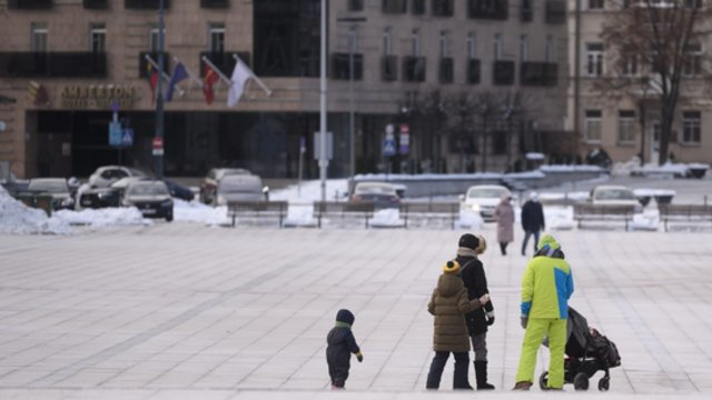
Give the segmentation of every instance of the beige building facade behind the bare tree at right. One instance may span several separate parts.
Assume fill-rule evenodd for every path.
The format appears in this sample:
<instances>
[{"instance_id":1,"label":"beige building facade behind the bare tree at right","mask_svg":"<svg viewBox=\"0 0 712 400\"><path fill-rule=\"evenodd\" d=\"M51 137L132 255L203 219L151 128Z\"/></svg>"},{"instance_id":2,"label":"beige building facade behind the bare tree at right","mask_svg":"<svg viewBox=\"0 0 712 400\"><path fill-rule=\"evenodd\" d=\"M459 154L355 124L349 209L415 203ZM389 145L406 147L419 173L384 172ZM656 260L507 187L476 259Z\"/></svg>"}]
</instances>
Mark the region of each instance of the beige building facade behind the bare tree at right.
<instances>
[{"instance_id":1,"label":"beige building facade behind the bare tree at right","mask_svg":"<svg viewBox=\"0 0 712 400\"><path fill-rule=\"evenodd\" d=\"M627 2L568 1L572 10L568 37L573 76L568 88L566 128L577 132L582 153L603 149L614 162L642 156L644 162L656 163L662 120L657 74L650 62L640 60L640 57L622 62L621 56L602 39L606 20L620 12L624 4ZM699 48L692 50L700 54L700 61L682 71L670 161L712 162L712 136L705 132L705 128L712 124L712 101L708 93L710 72L702 57L709 43L698 44ZM640 84L631 84L616 92L602 92L600 83L611 78L625 78Z\"/></svg>"}]
</instances>

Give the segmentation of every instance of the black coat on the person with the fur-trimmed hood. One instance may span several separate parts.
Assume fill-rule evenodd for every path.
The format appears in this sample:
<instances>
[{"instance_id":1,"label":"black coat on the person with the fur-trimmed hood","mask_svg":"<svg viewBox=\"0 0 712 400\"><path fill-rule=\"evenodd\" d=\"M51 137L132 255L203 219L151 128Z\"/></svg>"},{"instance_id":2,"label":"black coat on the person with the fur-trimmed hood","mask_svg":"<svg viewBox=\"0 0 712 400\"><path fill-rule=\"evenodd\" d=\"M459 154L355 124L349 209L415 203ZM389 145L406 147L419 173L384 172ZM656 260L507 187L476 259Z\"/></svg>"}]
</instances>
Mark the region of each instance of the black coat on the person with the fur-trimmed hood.
<instances>
[{"instance_id":1,"label":"black coat on the person with the fur-trimmed hood","mask_svg":"<svg viewBox=\"0 0 712 400\"><path fill-rule=\"evenodd\" d=\"M479 299L485 293L490 293L487 289L487 277L485 277L485 269L482 266L482 261L474 257L457 256L455 259L463 266L459 273L467 289L467 298L469 300ZM467 322L467 329L471 336L482 334L487 331L487 320L485 312L494 311L492 306L492 299L483 308L472 311L465 316Z\"/></svg>"}]
</instances>

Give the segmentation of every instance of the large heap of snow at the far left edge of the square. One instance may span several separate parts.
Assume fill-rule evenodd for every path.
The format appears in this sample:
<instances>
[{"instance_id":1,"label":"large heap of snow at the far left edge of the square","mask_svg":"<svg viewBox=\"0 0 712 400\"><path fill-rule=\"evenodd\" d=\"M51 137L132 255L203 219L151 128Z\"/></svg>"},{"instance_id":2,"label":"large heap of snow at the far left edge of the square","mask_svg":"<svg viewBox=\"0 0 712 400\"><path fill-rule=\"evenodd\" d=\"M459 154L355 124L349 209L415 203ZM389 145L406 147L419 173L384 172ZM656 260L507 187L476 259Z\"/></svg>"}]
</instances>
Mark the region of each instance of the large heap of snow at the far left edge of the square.
<instances>
[{"instance_id":1,"label":"large heap of snow at the far left edge of the square","mask_svg":"<svg viewBox=\"0 0 712 400\"><path fill-rule=\"evenodd\" d=\"M57 218L48 218L39 209L24 206L0 187L0 233L70 233L70 227Z\"/></svg>"}]
</instances>

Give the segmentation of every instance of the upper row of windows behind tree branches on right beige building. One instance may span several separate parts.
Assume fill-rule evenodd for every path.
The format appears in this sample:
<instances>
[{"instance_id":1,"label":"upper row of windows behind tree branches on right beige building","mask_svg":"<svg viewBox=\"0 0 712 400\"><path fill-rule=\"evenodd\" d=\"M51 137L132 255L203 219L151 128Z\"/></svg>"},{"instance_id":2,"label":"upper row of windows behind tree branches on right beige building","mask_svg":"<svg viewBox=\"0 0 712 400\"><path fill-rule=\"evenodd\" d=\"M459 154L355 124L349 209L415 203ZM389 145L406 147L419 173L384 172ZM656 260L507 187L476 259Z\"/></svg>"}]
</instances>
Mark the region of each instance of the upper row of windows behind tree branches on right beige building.
<instances>
[{"instance_id":1,"label":"upper row of windows behind tree branches on right beige building","mask_svg":"<svg viewBox=\"0 0 712 400\"><path fill-rule=\"evenodd\" d=\"M603 76L605 63L605 52L603 43L586 43L586 63L584 66L584 74L589 77ZM702 73L702 44L691 43L688 46L685 57L682 63L682 74L686 77L694 77ZM622 76L631 77L637 76L639 72L657 72L655 62L655 54L651 53L645 60L640 60L637 54L622 54L614 68ZM642 70L642 66L645 66L646 71Z\"/></svg>"}]
</instances>

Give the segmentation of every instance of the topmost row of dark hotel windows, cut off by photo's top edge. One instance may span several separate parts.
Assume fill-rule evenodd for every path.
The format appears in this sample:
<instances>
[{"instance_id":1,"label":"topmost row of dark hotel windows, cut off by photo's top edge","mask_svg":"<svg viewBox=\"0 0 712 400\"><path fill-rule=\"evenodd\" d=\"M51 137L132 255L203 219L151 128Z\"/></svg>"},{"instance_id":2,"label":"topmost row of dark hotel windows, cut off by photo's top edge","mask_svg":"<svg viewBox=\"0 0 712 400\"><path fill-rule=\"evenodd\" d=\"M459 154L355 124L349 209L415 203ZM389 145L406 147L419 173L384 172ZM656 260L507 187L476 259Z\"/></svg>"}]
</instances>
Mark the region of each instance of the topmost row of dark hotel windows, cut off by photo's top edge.
<instances>
[{"instance_id":1,"label":"topmost row of dark hotel windows, cut off by photo's top edge","mask_svg":"<svg viewBox=\"0 0 712 400\"><path fill-rule=\"evenodd\" d=\"M426 0L382 0L382 10L389 14L414 16L426 14ZM520 19L530 22L534 19L533 0L515 0L520 8ZM363 11L365 0L348 0L349 11ZM409 6L408 6L409 3ZM431 0L431 14L434 17L453 17L455 14L455 0ZM467 17L472 19L506 20L510 16L508 0L467 0ZM544 7L544 21L546 23L563 23L566 18L565 0L546 0Z\"/></svg>"}]
</instances>

